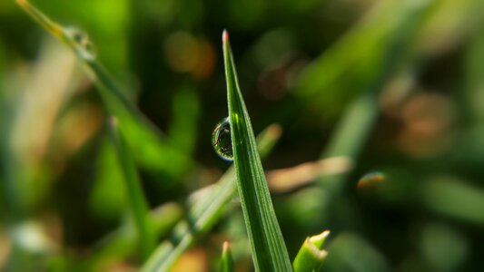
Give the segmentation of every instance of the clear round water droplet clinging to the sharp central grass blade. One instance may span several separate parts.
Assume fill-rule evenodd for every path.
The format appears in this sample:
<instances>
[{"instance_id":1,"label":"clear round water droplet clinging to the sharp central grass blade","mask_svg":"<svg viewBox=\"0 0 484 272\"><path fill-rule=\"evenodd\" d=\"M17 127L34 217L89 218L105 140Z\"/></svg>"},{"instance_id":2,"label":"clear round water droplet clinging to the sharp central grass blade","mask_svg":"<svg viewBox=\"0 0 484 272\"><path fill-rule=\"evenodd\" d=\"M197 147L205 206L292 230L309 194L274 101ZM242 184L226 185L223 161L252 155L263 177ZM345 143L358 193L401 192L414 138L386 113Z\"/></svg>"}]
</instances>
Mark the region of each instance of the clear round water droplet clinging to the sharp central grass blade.
<instances>
[{"instance_id":1,"label":"clear round water droplet clinging to the sharp central grass blade","mask_svg":"<svg viewBox=\"0 0 484 272\"><path fill-rule=\"evenodd\" d=\"M231 122L229 117L220 121L212 133L213 149L223 160L233 160Z\"/></svg>"}]
</instances>

